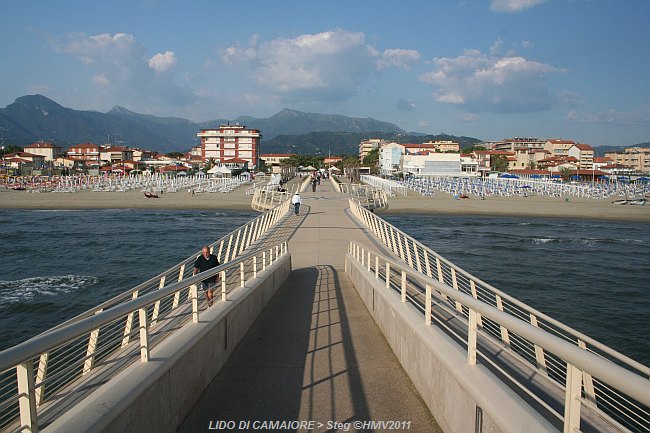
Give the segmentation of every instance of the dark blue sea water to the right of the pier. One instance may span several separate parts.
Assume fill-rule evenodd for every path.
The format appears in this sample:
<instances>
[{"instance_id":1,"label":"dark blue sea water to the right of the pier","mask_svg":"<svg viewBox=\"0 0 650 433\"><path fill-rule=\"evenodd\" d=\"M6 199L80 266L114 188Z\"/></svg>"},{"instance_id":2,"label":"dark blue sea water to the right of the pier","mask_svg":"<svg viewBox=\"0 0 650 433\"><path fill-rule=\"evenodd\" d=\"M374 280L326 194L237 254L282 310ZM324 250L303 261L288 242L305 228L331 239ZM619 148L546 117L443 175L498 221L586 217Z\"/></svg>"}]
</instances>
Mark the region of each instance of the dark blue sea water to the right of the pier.
<instances>
[{"instance_id":1,"label":"dark blue sea water to the right of the pier","mask_svg":"<svg viewBox=\"0 0 650 433\"><path fill-rule=\"evenodd\" d=\"M385 218L486 283L650 365L650 224Z\"/></svg>"}]
</instances>

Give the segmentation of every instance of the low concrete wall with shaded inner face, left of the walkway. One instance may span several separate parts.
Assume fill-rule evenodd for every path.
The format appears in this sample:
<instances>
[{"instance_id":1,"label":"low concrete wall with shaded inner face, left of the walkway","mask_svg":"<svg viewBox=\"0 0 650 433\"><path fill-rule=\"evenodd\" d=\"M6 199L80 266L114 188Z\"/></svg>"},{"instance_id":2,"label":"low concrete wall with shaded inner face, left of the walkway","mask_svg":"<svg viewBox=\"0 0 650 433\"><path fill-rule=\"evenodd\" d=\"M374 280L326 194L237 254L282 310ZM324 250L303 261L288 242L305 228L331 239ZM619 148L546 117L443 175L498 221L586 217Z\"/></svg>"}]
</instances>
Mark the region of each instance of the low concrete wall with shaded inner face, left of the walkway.
<instances>
[{"instance_id":1,"label":"low concrete wall with shaded inner face, left of the walkway","mask_svg":"<svg viewBox=\"0 0 650 433\"><path fill-rule=\"evenodd\" d=\"M287 254L42 431L175 432L290 272Z\"/></svg>"}]
</instances>

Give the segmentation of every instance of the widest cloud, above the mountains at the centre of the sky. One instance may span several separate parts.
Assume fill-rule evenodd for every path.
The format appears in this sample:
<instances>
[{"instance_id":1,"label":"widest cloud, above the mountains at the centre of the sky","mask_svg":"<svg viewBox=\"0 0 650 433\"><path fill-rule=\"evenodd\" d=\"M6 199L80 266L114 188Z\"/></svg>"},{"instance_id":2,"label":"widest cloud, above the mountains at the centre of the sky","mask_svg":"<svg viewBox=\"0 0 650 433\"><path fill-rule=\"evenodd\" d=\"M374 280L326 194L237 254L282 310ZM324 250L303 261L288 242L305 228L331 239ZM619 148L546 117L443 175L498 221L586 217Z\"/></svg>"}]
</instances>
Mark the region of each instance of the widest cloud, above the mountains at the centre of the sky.
<instances>
[{"instance_id":1,"label":"widest cloud, above the mountains at the centre of the sky","mask_svg":"<svg viewBox=\"0 0 650 433\"><path fill-rule=\"evenodd\" d=\"M402 49L382 53L366 43L363 33L334 30L266 42L256 36L246 46L226 48L221 60L284 99L342 101L375 71L408 68L419 60L419 53Z\"/></svg>"}]
</instances>

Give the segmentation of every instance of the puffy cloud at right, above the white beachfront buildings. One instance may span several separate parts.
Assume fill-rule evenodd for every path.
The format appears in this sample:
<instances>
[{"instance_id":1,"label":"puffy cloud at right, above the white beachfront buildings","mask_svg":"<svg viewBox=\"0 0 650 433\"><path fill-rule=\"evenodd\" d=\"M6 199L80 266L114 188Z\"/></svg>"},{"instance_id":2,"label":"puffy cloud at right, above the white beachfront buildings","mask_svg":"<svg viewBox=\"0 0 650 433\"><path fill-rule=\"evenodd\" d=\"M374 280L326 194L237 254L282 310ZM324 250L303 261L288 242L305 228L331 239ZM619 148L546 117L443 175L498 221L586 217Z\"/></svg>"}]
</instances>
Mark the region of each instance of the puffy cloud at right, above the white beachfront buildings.
<instances>
[{"instance_id":1,"label":"puffy cloud at right, above the white beachfront buildings","mask_svg":"<svg viewBox=\"0 0 650 433\"><path fill-rule=\"evenodd\" d=\"M490 54L467 50L437 58L420 79L434 87L438 102L463 105L471 112L520 113L549 109L557 99L546 88L549 75L562 69L520 56L500 56L499 41Z\"/></svg>"}]
</instances>

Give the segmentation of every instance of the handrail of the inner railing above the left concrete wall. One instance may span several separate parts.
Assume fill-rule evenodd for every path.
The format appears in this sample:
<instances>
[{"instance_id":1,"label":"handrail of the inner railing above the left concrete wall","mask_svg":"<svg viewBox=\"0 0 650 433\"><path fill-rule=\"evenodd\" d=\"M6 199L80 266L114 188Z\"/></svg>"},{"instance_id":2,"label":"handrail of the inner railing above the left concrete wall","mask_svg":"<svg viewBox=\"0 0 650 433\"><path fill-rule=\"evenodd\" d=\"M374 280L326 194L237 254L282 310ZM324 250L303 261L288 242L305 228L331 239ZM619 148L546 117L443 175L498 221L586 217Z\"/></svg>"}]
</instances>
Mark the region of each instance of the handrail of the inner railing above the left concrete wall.
<instances>
[{"instance_id":1,"label":"handrail of the inner railing above the left concrete wall","mask_svg":"<svg viewBox=\"0 0 650 433\"><path fill-rule=\"evenodd\" d=\"M277 247L280 245L286 247L286 241L281 242ZM264 250L266 250L266 248ZM284 249L284 251L287 251L287 249ZM89 333L93 329L109 324L124 317L126 314L149 306L179 290L185 289L211 276L217 275L224 270L230 269L231 267L259 254L259 252L260 251L252 251L244 254L215 268L192 275L186 279L164 286L130 301L117 304L108 310L93 314L90 317L75 322L67 322L60 327L51 329L50 331L32 337L16 346L5 349L0 352L0 372L11 369L26 360L36 358L37 356L48 352L52 348L58 347L70 340ZM98 308L94 308L93 311L98 311Z\"/></svg>"}]
</instances>

